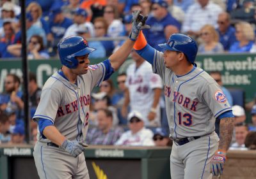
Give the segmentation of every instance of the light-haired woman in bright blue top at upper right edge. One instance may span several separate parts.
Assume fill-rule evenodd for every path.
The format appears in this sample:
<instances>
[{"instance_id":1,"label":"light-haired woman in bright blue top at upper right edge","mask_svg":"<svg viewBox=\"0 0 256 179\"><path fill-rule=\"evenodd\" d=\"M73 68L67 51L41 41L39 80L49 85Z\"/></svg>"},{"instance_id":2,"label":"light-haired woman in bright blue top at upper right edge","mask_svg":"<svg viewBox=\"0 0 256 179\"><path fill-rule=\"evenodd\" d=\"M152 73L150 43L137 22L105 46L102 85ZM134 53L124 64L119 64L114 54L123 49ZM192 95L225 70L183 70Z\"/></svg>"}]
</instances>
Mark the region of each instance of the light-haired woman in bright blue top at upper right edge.
<instances>
[{"instance_id":1,"label":"light-haired woman in bright blue top at upper right edge","mask_svg":"<svg viewBox=\"0 0 256 179\"><path fill-rule=\"evenodd\" d=\"M255 38L252 25L248 22L238 22L235 26L237 41L231 45L229 52L250 52Z\"/></svg>"}]
</instances>

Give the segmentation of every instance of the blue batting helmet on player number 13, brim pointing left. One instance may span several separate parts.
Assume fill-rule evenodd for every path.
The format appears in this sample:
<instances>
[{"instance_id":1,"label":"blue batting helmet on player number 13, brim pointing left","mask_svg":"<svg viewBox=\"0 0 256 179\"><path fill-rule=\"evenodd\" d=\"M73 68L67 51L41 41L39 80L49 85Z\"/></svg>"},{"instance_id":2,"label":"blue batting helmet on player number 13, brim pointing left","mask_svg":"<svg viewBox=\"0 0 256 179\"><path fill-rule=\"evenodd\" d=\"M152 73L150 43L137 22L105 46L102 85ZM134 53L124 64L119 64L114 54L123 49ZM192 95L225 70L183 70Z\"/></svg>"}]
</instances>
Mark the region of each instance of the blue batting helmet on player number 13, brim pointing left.
<instances>
[{"instance_id":1,"label":"blue batting helmet on player number 13, brim pointing left","mask_svg":"<svg viewBox=\"0 0 256 179\"><path fill-rule=\"evenodd\" d=\"M195 40L189 36L184 34L172 34L166 43L158 46L165 50L183 52L189 62L195 62L197 45Z\"/></svg>"}]
</instances>

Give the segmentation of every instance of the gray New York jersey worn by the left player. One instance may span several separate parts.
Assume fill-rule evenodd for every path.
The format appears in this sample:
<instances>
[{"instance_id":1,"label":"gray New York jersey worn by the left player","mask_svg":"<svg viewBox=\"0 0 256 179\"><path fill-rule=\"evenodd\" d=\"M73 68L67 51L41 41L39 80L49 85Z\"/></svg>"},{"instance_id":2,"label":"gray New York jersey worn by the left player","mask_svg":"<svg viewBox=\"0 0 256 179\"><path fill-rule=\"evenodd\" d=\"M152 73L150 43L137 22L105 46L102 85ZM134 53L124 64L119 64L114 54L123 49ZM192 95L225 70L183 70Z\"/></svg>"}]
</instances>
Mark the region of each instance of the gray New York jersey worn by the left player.
<instances>
[{"instance_id":1,"label":"gray New York jersey worn by the left player","mask_svg":"<svg viewBox=\"0 0 256 179\"><path fill-rule=\"evenodd\" d=\"M103 63L89 66L88 73L77 76L77 85L70 83L62 71L57 71L45 82L40 103L33 120L45 118L68 140L85 141L88 130L89 105L93 87L104 79ZM50 142L38 132L37 140Z\"/></svg>"}]
</instances>

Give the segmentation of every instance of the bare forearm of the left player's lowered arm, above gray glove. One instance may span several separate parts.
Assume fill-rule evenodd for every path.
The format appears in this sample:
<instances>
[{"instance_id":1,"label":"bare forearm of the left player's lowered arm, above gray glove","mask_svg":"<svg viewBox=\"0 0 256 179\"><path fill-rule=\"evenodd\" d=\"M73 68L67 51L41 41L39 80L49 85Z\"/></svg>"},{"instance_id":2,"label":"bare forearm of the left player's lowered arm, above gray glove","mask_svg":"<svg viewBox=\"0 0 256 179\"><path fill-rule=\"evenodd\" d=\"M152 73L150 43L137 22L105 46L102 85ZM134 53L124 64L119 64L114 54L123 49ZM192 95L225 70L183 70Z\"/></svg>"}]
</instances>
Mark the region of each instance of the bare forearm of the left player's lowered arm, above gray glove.
<instances>
[{"instance_id":1,"label":"bare forearm of the left player's lowered arm, above gray glove","mask_svg":"<svg viewBox=\"0 0 256 179\"><path fill-rule=\"evenodd\" d=\"M65 136L63 136L60 133L60 131L58 131L58 129L53 125L49 125L45 127L43 134L47 139L51 140L52 143L55 143L56 145L59 145L59 146L61 146L63 141L66 140Z\"/></svg>"}]
</instances>

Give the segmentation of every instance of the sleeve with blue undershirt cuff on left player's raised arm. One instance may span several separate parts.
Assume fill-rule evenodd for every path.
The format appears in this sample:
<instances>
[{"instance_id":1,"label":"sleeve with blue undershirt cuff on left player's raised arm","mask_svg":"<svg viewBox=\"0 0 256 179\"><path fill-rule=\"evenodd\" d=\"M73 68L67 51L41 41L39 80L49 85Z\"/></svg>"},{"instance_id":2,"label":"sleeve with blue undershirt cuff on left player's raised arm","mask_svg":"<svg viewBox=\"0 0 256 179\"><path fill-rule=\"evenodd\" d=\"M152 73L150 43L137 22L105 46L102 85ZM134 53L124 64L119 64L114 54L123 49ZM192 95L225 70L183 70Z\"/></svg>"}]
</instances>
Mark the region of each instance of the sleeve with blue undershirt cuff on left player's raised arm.
<instances>
[{"instance_id":1,"label":"sleeve with blue undershirt cuff on left player's raised arm","mask_svg":"<svg viewBox=\"0 0 256 179\"><path fill-rule=\"evenodd\" d=\"M99 64L90 65L89 71L92 77L92 88L99 87L100 83L104 80L108 80L109 76L114 73L114 69L111 67L109 59L100 62Z\"/></svg>"}]
</instances>

